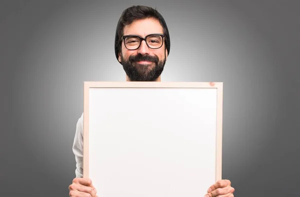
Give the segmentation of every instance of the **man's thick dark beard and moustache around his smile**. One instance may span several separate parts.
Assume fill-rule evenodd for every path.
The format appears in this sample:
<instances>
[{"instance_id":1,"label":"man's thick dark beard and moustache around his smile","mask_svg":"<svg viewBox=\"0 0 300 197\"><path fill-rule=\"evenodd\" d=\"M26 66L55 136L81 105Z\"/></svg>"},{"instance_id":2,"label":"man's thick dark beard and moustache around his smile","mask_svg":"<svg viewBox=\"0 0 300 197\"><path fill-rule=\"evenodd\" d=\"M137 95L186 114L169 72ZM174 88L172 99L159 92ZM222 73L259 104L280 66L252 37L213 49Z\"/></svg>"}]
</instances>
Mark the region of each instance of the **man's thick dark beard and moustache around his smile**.
<instances>
[{"instance_id":1,"label":"man's thick dark beard and moustache around his smile","mask_svg":"<svg viewBox=\"0 0 300 197\"><path fill-rule=\"evenodd\" d=\"M141 64L137 61L150 61L150 63ZM121 56L121 64L130 81L155 81L163 71L165 53L162 60L159 60L156 55L141 55L140 53L130 55L128 60L123 59L123 56Z\"/></svg>"}]
</instances>

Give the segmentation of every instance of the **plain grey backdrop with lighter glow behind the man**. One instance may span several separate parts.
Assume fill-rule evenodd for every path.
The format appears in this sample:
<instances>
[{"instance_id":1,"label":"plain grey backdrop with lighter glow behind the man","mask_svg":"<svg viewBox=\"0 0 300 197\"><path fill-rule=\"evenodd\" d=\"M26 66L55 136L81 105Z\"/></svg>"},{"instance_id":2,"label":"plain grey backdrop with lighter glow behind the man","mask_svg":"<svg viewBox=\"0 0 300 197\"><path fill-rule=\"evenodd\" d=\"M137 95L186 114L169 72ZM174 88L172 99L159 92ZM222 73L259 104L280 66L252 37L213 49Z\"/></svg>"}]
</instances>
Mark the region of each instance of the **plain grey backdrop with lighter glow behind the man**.
<instances>
[{"instance_id":1,"label":"plain grey backdrop with lighter glow behind the man","mask_svg":"<svg viewBox=\"0 0 300 197\"><path fill-rule=\"evenodd\" d=\"M297 0L1 0L0 196L68 196L83 81L125 80L113 39L132 4L167 21L162 81L224 82L222 176L235 196L298 196Z\"/></svg>"}]
</instances>

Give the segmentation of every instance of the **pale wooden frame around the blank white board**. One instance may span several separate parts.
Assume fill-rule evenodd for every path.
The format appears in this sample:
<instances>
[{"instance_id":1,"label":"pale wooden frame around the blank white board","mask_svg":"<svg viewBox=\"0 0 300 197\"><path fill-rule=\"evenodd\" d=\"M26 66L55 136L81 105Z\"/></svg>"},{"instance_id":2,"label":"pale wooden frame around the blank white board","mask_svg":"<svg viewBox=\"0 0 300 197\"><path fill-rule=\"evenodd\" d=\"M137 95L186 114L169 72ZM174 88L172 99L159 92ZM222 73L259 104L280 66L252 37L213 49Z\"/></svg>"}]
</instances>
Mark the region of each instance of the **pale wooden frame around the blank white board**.
<instances>
[{"instance_id":1,"label":"pale wooden frame around the blank white board","mask_svg":"<svg viewBox=\"0 0 300 197\"><path fill-rule=\"evenodd\" d=\"M204 187L208 188L211 184L213 184L215 181L221 179L221 166L222 166L222 101L223 101L223 83L222 82L132 82L132 81L84 81L84 110L83 110L83 177L84 178L90 178L90 173L93 173L90 171L89 168L89 153L90 153L90 130L89 130L89 119L90 119L90 90L93 88L196 88L196 89L215 89L216 90L216 130L215 130L215 141L211 141L211 143L215 144L215 178L213 181L205 182ZM105 111L102 111L105 113ZM95 179L95 178L94 178ZM97 185L97 180L94 180L93 184ZM203 187L203 185L202 185ZM206 189L207 189L206 188ZM205 191L206 191L205 189ZM101 188L97 188L98 193L99 190L101 191ZM203 189L201 192L205 192ZM119 193L120 194L120 193ZM118 196L119 196L118 194ZM188 193L190 196L191 193ZM194 194L194 193L193 193ZM205 193L200 193L201 195ZM99 195L99 194L98 194ZM132 193L130 194L131 196ZM155 194L156 195L156 194ZM180 194L182 196L182 193ZM178 194L178 196L180 196ZM104 194L99 196L105 196ZM117 196L115 195L107 195L107 196ZM129 196L129 195L122 195ZM136 195L138 196L138 195ZM143 195L146 196L146 195ZM148 195L147 195L148 196ZM149 195L150 196L150 195ZM152 196L152 195L151 195ZM165 194L156 195L157 196L165 196ZM172 196L174 196L172 194ZM106 196L105 196L106 197Z\"/></svg>"}]
</instances>

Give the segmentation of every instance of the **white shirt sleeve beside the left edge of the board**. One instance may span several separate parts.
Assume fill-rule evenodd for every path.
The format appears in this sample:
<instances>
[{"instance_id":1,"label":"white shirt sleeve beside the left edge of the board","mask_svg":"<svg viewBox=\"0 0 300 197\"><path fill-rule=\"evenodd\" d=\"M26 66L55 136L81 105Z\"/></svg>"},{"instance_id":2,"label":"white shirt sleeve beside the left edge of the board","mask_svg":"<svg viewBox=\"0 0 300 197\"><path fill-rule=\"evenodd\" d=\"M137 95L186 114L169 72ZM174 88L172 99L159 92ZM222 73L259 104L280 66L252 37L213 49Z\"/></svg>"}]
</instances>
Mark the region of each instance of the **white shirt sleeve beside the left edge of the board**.
<instances>
[{"instance_id":1,"label":"white shirt sleeve beside the left edge of the board","mask_svg":"<svg viewBox=\"0 0 300 197\"><path fill-rule=\"evenodd\" d=\"M72 149L76 160L75 175L76 177L83 177L83 113L76 124Z\"/></svg>"}]
</instances>

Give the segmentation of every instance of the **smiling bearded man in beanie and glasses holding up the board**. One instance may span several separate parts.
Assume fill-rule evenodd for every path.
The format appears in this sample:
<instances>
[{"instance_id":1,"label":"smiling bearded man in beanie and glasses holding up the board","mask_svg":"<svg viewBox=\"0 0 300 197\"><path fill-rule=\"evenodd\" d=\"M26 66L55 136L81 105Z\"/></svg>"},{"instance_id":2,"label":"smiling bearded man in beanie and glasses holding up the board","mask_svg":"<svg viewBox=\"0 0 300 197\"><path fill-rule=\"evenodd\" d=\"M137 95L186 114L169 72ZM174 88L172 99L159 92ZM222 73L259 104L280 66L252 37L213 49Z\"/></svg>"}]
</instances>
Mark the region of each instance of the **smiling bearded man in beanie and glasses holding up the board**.
<instances>
[{"instance_id":1,"label":"smiling bearded man in beanie and glasses holding up the board","mask_svg":"<svg viewBox=\"0 0 300 197\"><path fill-rule=\"evenodd\" d=\"M115 32L115 56L126 73L126 81L160 81L160 74L170 51L170 38L160 13L147 6L131 6L123 11ZM73 143L76 178L69 185L71 197L96 197L92 181L82 178L83 114L78 119ZM101 188L99 188L101 189ZM209 197L232 197L234 188L229 180L211 185Z\"/></svg>"}]
</instances>

